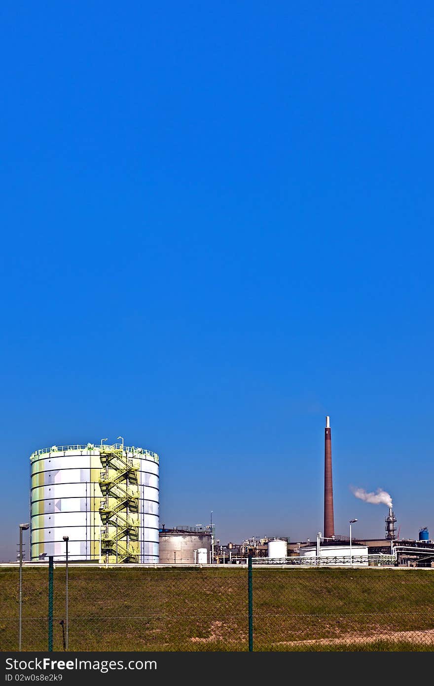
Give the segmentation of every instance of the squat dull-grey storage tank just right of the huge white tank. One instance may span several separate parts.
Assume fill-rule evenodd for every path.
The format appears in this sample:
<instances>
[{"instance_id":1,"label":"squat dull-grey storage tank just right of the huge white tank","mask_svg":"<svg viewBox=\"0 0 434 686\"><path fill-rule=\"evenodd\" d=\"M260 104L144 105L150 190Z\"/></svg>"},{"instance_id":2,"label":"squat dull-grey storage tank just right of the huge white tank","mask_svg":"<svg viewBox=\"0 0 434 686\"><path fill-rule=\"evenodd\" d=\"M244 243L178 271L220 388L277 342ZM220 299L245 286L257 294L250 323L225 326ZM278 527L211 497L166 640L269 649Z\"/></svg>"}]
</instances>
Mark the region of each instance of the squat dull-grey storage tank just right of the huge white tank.
<instances>
[{"instance_id":1,"label":"squat dull-grey storage tank just right of the huge white tank","mask_svg":"<svg viewBox=\"0 0 434 686\"><path fill-rule=\"evenodd\" d=\"M209 528L177 526L160 529L160 564L195 565L210 563L212 533Z\"/></svg>"}]
</instances>

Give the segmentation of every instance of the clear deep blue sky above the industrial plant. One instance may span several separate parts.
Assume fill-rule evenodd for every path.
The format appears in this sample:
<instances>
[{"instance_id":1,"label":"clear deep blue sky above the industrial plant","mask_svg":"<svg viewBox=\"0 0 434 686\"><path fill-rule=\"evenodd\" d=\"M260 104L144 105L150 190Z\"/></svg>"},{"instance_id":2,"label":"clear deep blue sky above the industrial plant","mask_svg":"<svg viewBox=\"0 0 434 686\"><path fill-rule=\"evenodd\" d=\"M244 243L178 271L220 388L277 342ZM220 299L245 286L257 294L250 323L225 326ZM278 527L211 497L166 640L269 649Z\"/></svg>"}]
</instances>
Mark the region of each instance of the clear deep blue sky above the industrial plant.
<instances>
[{"instance_id":1,"label":"clear deep blue sky above the industrial plant","mask_svg":"<svg viewBox=\"0 0 434 686\"><path fill-rule=\"evenodd\" d=\"M432 3L3 3L0 558L29 454L160 453L161 523L434 534ZM354 534L356 530L354 528Z\"/></svg>"}]
</instances>

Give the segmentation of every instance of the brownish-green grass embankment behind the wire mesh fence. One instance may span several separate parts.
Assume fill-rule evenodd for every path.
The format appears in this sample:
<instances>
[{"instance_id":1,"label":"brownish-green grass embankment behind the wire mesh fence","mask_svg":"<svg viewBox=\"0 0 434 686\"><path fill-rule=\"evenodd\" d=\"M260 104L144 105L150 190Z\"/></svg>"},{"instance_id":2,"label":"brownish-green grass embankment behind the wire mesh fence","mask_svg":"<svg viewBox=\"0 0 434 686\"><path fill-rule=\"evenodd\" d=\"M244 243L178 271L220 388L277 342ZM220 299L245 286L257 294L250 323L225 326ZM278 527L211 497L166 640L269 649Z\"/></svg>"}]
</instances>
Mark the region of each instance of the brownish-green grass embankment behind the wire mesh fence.
<instances>
[{"instance_id":1,"label":"brownish-green grass embankment behind the wire mesh fence","mask_svg":"<svg viewBox=\"0 0 434 686\"><path fill-rule=\"evenodd\" d=\"M62 650L64 566L54 571ZM23 570L23 650L47 650L47 567ZM254 569L255 650L433 650L434 570ZM0 648L16 650L18 569L0 567ZM247 650L233 567L69 568L70 650Z\"/></svg>"}]
</instances>

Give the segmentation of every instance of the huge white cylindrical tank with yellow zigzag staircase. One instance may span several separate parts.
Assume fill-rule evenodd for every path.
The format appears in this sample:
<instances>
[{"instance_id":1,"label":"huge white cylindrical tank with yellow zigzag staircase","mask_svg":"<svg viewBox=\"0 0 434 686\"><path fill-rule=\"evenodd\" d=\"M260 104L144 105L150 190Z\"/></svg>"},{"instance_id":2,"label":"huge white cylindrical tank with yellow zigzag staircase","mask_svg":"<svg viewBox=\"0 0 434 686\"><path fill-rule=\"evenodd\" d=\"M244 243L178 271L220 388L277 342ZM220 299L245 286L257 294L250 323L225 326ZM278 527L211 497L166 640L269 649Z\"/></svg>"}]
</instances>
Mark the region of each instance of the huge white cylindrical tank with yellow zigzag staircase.
<instances>
[{"instance_id":1,"label":"huge white cylindrical tank with yellow zigzag staircase","mask_svg":"<svg viewBox=\"0 0 434 686\"><path fill-rule=\"evenodd\" d=\"M30 456L31 558L158 563L158 455L66 445Z\"/></svg>"}]
</instances>

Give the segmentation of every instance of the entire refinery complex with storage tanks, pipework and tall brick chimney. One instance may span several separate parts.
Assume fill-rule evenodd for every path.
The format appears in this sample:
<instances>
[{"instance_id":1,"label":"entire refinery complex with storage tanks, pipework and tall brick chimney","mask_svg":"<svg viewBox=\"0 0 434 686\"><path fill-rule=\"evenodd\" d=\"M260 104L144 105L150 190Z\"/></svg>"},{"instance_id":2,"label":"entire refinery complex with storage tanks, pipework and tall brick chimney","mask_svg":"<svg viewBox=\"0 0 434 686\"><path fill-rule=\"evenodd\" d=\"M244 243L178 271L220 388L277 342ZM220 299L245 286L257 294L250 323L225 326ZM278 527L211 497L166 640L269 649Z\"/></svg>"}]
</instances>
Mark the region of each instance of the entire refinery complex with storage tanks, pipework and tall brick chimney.
<instances>
[{"instance_id":1,"label":"entire refinery complex with storage tanks, pipework and tall brick chimney","mask_svg":"<svg viewBox=\"0 0 434 686\"><path fill-rule=\"evenodd\" d=\"M118 436L121 438L121 436ZM56 446L30 456L30 558L144 565L256 564L405 565L434 567L434 541L400 541L391 497L358 489L361 499L388 506L383 539L335 534L330 417L324 429L324 525L310 541L264 536L223 545L215 526L160 527L159 458L121 443ZM380 489L378 489L380 490ZM363 495L364 494L364 495ZM354 494L356 495L356 494ZM366 497L365 497L366 496ZM368 497L370 499L368 499Z\"/></svg>"}]
</instances>

